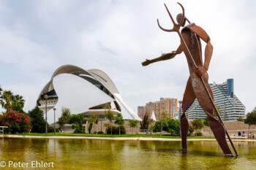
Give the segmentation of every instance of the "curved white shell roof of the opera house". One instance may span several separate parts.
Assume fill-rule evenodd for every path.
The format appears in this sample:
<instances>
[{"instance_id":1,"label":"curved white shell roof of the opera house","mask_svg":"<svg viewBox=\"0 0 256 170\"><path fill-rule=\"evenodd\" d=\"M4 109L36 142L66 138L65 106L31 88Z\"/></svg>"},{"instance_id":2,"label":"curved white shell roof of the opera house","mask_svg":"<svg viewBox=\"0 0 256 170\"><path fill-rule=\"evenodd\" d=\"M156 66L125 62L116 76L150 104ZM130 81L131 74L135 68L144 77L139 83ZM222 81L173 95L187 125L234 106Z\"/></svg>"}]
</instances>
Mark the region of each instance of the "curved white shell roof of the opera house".
<instances>
[{"instance_id":1,"label":"curved white shell roof of the opera house","mask_svg":"<svg viewBox=\"0 0 256 170\"><path fill-rule=\"evenodd\" d=\"M107 91L100 90L84 77L91 77L94 82L102 85ZM78 114L86 112L89 108L99 104L114 101L117 104L117 109L121 111L119 106L121 104L127 111L127 113L122 112L125 119L141 120L121 99L116 85L110 77L99 69L86 71L78 66L61 66L53 73L50 81L39 94L38 99L41 98L42 94L53 89L59 98L55 106L58 110L61 110L61 107L68 107L73 114ZM49 115L51 115L51 112L53 113L53 110L50 110Z\"/></svg>"}]
</instances>

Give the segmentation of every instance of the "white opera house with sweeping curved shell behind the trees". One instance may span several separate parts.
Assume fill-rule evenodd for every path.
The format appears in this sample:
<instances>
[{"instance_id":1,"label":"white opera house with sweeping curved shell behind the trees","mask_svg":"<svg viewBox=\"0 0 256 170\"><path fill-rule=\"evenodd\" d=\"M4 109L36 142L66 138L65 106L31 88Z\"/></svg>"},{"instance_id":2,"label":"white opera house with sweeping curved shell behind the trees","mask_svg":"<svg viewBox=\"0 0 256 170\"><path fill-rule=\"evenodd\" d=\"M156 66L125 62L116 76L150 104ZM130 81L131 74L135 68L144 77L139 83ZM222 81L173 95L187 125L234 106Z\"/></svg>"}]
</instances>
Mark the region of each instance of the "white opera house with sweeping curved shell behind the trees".
<instances>
[{"instance_id":1,"label":"white opera house with sweeping curved shell behind the trees","mask_svg":"<svg viewBox=\"0 0 256 170\"><path fill-rule=\"evenodd\" d=\"M124 119L141 120L129 106L124 103L116 85L105 72L99 69L84 70L78 66L64 65L56 69L50 81L37 98L37 106L46 110L47 95L48 122L53 122L53 107L56 108L56 121L61 117L62 107L69 108L71 114L98 115L105 120L108 108L115 114L121 113Z\"/></svg>"}]
</instances>

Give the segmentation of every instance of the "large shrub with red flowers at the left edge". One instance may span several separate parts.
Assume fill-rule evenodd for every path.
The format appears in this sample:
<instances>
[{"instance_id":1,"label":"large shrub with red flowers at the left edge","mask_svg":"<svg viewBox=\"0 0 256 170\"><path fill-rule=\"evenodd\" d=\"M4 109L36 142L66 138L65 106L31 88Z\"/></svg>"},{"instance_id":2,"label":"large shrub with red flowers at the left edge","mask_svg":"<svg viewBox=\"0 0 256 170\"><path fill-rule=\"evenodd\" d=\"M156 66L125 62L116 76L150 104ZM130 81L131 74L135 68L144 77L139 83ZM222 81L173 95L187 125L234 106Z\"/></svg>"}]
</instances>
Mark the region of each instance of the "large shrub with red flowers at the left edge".
<instances>
[{"instance_id":1,"label":"large shrub with red flowers at the left edge","mask_svg":"<svg viewBox=\"0 0 256 170\"><path fill-rule=\"evenodd\" d=\"M29 132L31 130L31 120L30 117L26 114L9 111L0 115L0 125L6 125L8 128L4 131L11 134L23 132Z\"/></svg>"}]
</instances>

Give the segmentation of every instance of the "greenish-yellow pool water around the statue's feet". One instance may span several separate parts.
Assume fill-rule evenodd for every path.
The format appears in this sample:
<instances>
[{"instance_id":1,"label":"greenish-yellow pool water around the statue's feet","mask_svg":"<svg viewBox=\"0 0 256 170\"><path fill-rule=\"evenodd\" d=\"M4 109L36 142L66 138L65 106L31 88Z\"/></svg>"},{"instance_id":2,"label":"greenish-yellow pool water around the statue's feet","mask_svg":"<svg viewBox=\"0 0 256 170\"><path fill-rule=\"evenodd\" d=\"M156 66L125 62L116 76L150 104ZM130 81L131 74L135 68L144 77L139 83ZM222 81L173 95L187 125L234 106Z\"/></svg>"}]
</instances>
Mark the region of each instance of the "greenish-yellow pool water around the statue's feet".
<instances>
[{"instance_id":1,"label":"greenish-yellow pool water around the statue's feet","mask_svg":"<svg viewBox=\"0 0 256 170\"><path fill-rule=\"evenodd\" d=\"M217 142L116 141L91 139L0 139L0 169L256 169L256 142L234 142L237 158L223 155ZM29 163L27 168L8 167ZM31 161L53 162L33 168ZM1 166L2 164L0 164Z\"/></svg>"}]
</instances>

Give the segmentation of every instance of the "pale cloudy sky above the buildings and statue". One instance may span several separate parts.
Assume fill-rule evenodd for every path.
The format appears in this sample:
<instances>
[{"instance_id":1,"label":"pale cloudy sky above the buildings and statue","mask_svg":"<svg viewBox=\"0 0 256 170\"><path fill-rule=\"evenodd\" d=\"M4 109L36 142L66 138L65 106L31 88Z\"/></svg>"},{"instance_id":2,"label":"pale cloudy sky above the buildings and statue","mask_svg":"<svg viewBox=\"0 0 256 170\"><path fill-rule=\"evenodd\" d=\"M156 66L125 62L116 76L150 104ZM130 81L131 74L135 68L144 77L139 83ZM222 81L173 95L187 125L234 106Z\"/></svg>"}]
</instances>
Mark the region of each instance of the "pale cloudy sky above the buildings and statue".
<instances>
[{"instance_id":1,"label":"pale cloudy sky above the buildings and statue","mask_svg":"<svg viewBox=\"0 0 256 170\"><path fill-rule=\"evenodd\" d=\"M251 112L255 102L256 1L180 1L190 21L211 37L209 82L235 82ZM28 96L32 109L43 86L64 64L101 69L124 101L137 107L160 97L181 100L189 77L182 53L143 67L146 58L176 50L178 34L162 31L181 12L176 1L0 1L0 85ZM203 44L205 45L205 44ZM26 109L26 110L27 110Z\"/></svg>"}]
</instances>

